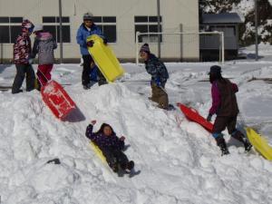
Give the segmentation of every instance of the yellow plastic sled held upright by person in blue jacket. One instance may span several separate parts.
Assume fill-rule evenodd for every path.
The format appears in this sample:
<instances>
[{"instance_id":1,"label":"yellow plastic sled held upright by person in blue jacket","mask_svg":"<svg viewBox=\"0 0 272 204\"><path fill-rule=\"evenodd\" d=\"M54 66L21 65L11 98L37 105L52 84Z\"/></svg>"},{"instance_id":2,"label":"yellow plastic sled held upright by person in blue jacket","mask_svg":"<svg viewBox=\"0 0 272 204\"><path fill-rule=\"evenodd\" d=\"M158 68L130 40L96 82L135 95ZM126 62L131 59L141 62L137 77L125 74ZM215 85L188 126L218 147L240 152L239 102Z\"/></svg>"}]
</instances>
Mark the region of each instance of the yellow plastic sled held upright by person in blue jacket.
<instances>
[{"instance_id":1,"label":"yellow plastic sled held upright by person in blue jacket","mask_svg":"<svg viewBox=\"0 0 272 204\"><path fill-rule=\"evenodd\" d=\"M91 53L92 59L106 80L111 83L114 82L117 78L122 76L124 69L121 67L112 48L109 45L103 44L103 40L100 36L92 34L87 38L87 42L91 40L94 44L92 47L88 47L88 51Z\"/></svg>"}]
</instances>

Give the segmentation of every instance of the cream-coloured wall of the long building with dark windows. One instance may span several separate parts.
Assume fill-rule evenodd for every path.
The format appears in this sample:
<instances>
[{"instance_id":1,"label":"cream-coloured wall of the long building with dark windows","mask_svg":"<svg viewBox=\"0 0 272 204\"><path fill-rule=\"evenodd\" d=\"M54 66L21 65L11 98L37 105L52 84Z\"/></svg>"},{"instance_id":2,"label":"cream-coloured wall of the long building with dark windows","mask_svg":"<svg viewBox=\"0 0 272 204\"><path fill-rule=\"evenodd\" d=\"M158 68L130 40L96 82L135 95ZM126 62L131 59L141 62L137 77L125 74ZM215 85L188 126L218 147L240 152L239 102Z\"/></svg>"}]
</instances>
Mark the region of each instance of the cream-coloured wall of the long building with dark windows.
<instances>
[{"instance_id":1,"label":"cream-coloured wall of the long building with dark windows","mask_svg":"<svg viewBox=\"0 0 272 204\"><path fill-rule=\"evenodd\" d=\"M198 32L199 14L197 0L160 1L163 32ZM117 42L111 44L118 58L135 58L135 15L157 15L156 0L63 0L63 16L70 17L71 43L63 44L64 58L79 58L76 32L82 24L83 14L116 16ZM56 0L0 0L0 16L24 16L34 24L42 24L43 16L58 16ZM181 26L180 26L181 25ZM180 42L181 45L180 46ZM151 51L157 53L157 43L151 43ZM12 44L2 44L3 57L12 57ZM180 53L180 51L182 53ZM59 57L59 49L55 52ZM164 35L161 57L199 59L199 38L192 35Z\"/></svg>"}]
</instances>

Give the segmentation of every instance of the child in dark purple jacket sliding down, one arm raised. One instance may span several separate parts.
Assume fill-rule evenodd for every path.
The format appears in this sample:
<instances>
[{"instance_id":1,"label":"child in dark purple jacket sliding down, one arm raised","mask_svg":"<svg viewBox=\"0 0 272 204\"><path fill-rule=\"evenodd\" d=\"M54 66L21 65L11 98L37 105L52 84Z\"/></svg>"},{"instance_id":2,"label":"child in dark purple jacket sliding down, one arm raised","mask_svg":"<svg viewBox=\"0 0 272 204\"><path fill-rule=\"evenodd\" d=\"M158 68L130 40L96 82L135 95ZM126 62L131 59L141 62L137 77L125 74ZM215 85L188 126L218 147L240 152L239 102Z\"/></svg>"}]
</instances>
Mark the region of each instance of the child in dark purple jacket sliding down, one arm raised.
<instances>
[{"instance_id":1,"label":"child in dark purple jacket sliding down, one arm raised","mask_svg":"<svg viewBox=\"0 0 272 204\"><path fill-rule=\"evenodd\" d=\"M134 167L133 160L129 161L127 156L122 152L124 150L125 137L118 138L112 130L111 125L102 123L99 131L92 132L93 125L96 121L92 121L86 129L86 137L94 142L102 151L109 166L114 172L121 170L132 170Z\"/></svg>"}]
</instances>

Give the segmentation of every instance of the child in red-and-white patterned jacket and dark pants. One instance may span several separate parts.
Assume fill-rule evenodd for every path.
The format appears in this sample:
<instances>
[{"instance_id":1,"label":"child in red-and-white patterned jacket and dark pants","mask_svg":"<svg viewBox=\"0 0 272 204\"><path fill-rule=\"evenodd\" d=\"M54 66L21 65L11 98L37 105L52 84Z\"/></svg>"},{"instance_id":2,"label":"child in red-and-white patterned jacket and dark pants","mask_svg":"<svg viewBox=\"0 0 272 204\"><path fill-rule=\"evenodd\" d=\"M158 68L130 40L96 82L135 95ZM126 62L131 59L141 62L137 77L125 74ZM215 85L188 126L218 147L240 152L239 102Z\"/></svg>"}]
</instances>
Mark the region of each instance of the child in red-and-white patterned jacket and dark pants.
<instances>
[{"instance_id":1,"label":"child in red-and-white patterned jacket and dark pants","mask_svg":"<svg viewBox=\"0 0 272 204\"><path fill-rule=\"evenodd\" d=\"M12 93L23 92L21 86L26 75L26 91L34 90L35 73L32 65L29 63L31 53L30 35L34 29L34 24L27 19L22 23L22 32L15 40L14 44L14 63L16 66L15 81L13 83Z\"/></svg>"}]
</instances>

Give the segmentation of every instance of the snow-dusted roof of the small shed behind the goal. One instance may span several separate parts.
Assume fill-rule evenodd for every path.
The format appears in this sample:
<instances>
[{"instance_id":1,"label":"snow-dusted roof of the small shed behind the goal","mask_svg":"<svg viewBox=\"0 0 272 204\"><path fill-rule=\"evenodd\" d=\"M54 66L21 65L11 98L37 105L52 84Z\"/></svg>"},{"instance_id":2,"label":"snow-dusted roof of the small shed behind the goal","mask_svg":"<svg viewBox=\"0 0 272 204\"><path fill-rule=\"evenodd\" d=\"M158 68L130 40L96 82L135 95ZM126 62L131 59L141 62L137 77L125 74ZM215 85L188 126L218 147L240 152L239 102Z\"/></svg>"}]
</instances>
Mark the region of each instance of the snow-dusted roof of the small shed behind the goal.
<instances>
[{"instance_id":1,"label":"snow-dusted roof of the small shed behind the goal","mask_svg":"<svg viewBox=\"0 0 272 204\"><path fill-rule=\"evenodd\" d=\"M202 15L202 24L241 24L242 19L237 13Z\"/></svg>"}]
</instances>

